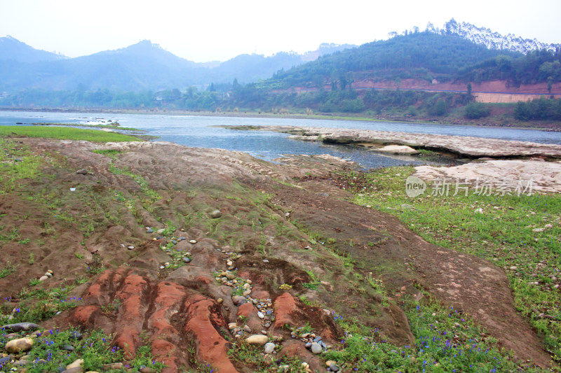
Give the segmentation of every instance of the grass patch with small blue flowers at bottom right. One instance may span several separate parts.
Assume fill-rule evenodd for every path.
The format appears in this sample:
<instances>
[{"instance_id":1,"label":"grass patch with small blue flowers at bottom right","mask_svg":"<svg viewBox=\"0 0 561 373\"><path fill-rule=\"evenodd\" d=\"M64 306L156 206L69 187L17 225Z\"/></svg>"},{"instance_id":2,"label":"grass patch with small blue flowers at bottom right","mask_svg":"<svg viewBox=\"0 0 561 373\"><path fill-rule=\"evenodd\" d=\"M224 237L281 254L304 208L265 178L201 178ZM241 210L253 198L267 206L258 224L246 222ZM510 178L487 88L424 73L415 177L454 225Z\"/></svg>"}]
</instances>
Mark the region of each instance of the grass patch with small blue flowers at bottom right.
<instances>
[{"instance_id":1,"label":"grass patch with small blue flowers at bottom right","mask_svg":"<svg viewBox=\"0 0 561 373\"><path fill-rule=\"evenodd\" d=\"M426 298L407 301L414 346L386 342L377 329L333 314L345 332L338 346L322 356L349 372L518 372L511 356L478 325L452 307ZM539 372L525 367L524 372Z\"/></svg>"}]
</instances>

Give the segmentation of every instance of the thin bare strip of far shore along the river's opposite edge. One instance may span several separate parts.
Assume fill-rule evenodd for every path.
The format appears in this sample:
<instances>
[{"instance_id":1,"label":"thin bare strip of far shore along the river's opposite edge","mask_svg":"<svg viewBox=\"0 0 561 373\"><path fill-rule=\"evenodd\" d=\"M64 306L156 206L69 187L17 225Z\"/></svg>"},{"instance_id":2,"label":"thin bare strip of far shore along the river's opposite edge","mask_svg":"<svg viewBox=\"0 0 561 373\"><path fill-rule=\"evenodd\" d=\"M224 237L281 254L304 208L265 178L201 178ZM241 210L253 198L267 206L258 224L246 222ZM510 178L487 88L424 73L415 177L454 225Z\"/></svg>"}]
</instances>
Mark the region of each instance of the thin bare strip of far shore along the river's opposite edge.
<instances>
[{"instance_id":1,"label":"thin bare strip of far shore along the river's opposite edge","mask_svg":"<svg viewBox=\"0 0 561 373\"><path fill-rule=\"evenodd\" d=\"M327 114L273 114L257 111L245 112L216 112L216 111L185 111L185 110L163 110L151 111L149 109L111 109L111 108L4 108L0 107L0 111L15 111L15 112L34 112L34 113L100 113L100 114L148 114L148 115L184 115L184 116L202 116L202 117L231 117L231 118L283 118L283 119L310 119L310 120L354 120L360 122L396 122L396 123L419 123L427 125L451 125L451 126L466 126L466 127L486 127L486 128L511 128L511 129L533 129L536 131L544 132L561 132L561 123L553 123L553 128L544 127L543 124L535 124L526 122L529 125L494 125L484 123L473 123L469 121L462 121L461 123L454 122L454 120L446 121L441 118L419 118L412 120L411 118L398 117L398 118L367 118L367 117L354 117L346 115L327 115ZM457 118L451 118L457 119Z\"/></svg>"}]
</instances>

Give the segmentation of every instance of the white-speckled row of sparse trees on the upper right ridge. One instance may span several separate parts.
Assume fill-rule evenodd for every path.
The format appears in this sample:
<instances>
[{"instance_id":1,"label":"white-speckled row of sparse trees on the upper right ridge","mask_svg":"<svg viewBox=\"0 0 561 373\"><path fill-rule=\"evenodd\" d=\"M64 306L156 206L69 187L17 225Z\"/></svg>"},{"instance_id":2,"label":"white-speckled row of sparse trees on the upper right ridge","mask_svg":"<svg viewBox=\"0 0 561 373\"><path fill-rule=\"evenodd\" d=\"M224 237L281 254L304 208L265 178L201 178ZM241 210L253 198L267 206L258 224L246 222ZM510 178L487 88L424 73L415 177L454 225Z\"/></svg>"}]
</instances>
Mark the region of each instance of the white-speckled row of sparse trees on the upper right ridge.
<instances>
[{"instance_id":1,"label":"white-speckled row of sparse trees on the upper right ridge","mask_svg":"<svg viewBox=\"0 0 561 373\"><path fill-rule=\"evenodd\" d=\"M471 23L458 23L454 18L446 22L442 29L435 28L429 23L426 31L441 35L458 35L473 43L485 45L489 49L508 50L510 52L520 52L527 54L531 50L549 50L555 52L557 48L561 48L561 44L541 43L534 39L521 38L514 34L501 35L491 29L485 27L477 27Z\"/></svg>"}]
</instances>

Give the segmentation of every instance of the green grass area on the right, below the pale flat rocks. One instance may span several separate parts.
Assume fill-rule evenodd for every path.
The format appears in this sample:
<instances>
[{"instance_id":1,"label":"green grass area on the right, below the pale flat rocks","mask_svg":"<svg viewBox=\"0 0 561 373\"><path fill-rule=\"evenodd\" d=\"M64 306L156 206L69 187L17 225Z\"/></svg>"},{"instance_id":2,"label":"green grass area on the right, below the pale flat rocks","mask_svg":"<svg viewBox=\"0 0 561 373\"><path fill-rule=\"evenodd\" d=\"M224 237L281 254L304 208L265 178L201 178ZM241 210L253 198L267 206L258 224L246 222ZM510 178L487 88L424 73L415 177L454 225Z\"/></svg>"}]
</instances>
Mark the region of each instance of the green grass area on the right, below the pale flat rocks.
<instances>
[{"instance_id":1,"label":"green grass area on the right, below the pale flat rocks","mask_svg":"<svg viewBox=\"0 0 561 373\"><path fill-rule=\"evenodd\" d=\"M357 204L391 213L426 241L506 269L515 307L560 361L561 293L555 286L561 278L561 196L477 195L473 188L467 196L464 190L454 196L454 185L447 196L431 196L428 185L424 195L409 198L405 179L413 172L412 167L393 167L346 178L351 188L355 185ZM552 227L533 232L546 224Z\"/></svg>"}]
</instances>

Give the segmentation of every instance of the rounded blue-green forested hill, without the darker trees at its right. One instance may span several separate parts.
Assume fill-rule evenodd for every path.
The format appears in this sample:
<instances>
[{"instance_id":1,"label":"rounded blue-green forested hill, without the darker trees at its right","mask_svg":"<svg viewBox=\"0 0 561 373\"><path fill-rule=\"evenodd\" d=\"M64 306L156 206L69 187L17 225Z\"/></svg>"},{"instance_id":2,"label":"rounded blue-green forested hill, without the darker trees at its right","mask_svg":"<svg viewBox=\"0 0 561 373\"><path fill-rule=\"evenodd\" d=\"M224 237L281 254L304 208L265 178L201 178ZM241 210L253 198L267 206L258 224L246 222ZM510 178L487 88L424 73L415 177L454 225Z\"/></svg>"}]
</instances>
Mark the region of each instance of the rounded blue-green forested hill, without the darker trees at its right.
<instances>
[{"instance_id":1,"label":"rounded blue-green forested hill, without the darker trees at its right","mask_svg":"<svg viewBox=\"0 0 561 373\"><path fill-rule=\"evenodd\" d=\"M511 59L519 52L489 50L455 35L415 32L386 41L374 41L359 48L335 52L289 71L276 73L271 87L320 87L324 83L346 85L357 79L424 78L451 80L460 69L480 64L499 55Z\"/></svg>"}]
</instances>

